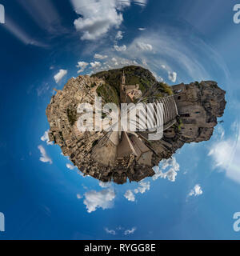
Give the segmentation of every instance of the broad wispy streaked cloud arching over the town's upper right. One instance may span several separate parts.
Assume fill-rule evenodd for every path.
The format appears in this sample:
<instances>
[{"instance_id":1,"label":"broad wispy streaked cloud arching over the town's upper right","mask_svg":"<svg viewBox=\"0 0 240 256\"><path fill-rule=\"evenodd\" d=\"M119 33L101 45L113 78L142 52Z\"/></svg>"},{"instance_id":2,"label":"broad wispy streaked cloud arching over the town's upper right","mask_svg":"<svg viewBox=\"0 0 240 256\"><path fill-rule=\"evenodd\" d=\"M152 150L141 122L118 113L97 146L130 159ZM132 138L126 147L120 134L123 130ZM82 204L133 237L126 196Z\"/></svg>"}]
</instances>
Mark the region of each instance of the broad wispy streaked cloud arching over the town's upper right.
<instances>
[{"instance_id":1,"label":"broad wispy streaked cloud arching over the town's upper right","mask_svg":"<svg viewBox=\"0 0 240 256\"><path fill-rule=\"evenodd\" d=\"M138 65L170 82L176 82L177 77L182 82L209 80L210 72L216 69L227 76L226 67L218 54L197 35L186 36L189 34L186 31L173 27L164 27L158 31L142 30L138 37L124 47L115 45L115 51L110 50L110 46L103 48L102 51L109 56L104 67L114 66L110 63L112 58L125 59L126 62L138 62ZM214 62L214 68L210 62ZM115 63L118 64L115 67L125 65L123 62Z\"/></svg>"}]
</instances>

